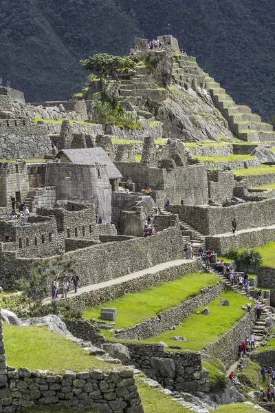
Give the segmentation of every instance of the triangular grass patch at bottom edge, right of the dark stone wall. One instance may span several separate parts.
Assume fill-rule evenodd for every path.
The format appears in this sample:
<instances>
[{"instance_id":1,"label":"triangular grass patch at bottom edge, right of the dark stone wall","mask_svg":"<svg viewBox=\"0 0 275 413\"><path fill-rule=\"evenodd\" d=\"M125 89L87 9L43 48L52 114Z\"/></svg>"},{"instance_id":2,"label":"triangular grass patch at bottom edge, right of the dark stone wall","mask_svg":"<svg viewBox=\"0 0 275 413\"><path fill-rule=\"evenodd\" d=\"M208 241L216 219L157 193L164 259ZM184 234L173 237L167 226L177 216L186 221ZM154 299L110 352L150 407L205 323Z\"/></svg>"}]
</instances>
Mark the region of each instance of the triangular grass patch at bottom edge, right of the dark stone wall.
<instances>
[{"instance_id":1,"label":"triangular grass patch at bottom edge, right of the dark stone wall","mask_svg":"<svg viewBox=\"0 0 275 413\"><path fill-rule=\"evenodd\" d=\"M189 409L182 407L170 396L163 394L159 388L151 388L139 377L137 380L137 390L140 393L144 413L191 413Z\"/></svg>"}]
</instances>

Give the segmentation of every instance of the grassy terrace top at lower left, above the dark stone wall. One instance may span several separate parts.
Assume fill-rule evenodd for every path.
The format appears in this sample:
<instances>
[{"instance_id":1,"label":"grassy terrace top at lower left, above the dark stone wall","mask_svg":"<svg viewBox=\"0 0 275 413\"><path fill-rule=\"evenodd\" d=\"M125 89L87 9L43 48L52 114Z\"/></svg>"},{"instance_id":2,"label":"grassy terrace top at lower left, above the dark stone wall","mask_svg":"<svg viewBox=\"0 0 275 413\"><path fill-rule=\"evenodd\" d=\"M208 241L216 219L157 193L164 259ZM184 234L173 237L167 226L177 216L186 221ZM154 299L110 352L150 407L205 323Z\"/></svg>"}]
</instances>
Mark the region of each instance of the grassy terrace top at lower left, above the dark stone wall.
<instances>
[{"instance_id":1,"label":"grassy terrace top at lower left, above the dark stone wall","mask_svg":"<svg viewBox=\"0 0 275 413\"><path fill-rule=\"evenodd\" d=\"M4 323L5 352L8 366L30 370L82 371L85 368L107 369L110 365L89 356L65 336L47 330L45 326L10 326Z\"/></svg>"}]
</instances>

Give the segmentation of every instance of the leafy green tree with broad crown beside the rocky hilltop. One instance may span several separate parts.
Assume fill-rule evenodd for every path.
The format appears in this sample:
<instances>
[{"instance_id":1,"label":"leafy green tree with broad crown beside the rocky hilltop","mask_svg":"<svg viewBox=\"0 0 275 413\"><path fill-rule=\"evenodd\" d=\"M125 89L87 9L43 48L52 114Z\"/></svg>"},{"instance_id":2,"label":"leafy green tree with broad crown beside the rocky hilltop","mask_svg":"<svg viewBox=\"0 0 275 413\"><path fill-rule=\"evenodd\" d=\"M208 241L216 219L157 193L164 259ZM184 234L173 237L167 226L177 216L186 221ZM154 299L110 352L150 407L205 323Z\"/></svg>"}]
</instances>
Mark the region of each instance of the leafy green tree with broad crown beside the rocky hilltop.
<instances>
[{"instance_id":1,"label":"leafy green tree with broad crown beside the rocky hilltop","mask_svg":"<svg viewBox=\"0 0 275 413\"><path fill-rule=\"evenodd\" d=\"M80 65L85 70L92 70L101 81L108 83L109 76L117 79L122 73L133 70L135 62L129 57L113 56L112 54L99 53L88 59L80 60Z\"/></svg>"}]
</instances>

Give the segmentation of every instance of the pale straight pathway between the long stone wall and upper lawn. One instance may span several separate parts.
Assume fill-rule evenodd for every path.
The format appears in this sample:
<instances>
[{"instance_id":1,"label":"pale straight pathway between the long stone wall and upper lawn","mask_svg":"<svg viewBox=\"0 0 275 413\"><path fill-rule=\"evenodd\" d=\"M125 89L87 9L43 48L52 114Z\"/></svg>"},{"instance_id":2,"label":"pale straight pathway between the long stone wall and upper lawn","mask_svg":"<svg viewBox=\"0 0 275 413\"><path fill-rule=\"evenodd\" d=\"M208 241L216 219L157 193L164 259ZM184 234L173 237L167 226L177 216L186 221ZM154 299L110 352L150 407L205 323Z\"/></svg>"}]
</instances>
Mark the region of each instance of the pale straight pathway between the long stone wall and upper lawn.
<instances>
[{"instance_id":1,"label":"pale straight pathway between the long stone wall and upper lawn","mask_svg":"<svg viewBox=\"0 0 275 413\"><path fill-rule=\"evenodd\" d=\"M166 268L170 268L170 267L173 267L173 266L180 266L182 264L187 265L188 263L194 262L196 260L197 260L197 258L194 258L193 260L186 260L184 258L182 260L163 262L162 264L158 264L158 265L155 265L155 266L150 267L150 268L145 268L144 270L136 271L135 273L126 274L126 275L123 275L122 277L119 277L119 278L110 279L109 281L100 282L98 284L91 284L89 286L80 287L80 288L78 288L77 293L74 293L74 284L71 283L72 290L69 291L67 297L68 298L69 297L74 297L76 295L81 295L83 293L89 293L89 291L99 290L100 288L113 286L115 284L121 284L122 282L142 277L145 274L157 273L158 271L165 270ZM61 297L61 295L60 295L60 297ZM51 297L45 298L43 300L43 304L50 304L51 301L52 301Z\"/></svg>"}]
</instances>

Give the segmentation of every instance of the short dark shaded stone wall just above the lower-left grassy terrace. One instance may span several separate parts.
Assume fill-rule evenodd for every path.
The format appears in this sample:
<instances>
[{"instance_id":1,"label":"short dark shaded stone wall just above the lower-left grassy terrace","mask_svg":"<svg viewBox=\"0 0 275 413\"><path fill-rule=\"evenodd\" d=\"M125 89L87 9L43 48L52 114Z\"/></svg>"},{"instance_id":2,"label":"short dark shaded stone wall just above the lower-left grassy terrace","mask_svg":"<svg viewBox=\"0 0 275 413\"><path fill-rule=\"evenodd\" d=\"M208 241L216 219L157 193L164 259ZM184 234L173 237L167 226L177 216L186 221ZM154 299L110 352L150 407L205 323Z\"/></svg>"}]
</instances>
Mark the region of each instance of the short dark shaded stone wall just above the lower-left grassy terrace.
<instances>
[{"instance_id":1,"label":"short dark shaded stone wall just above the lower-left grassy terrace","mask_svg":"<svg viewBox=\"0 0 275 413\"><path fill-rule=\"evenodd\" d=\"M100 328L96 324L91 324L85 320L63 319L67 330L78 339L91 341L93 344L105 343L104 335L100 333Z\"/></svg>"}]
</instances>

